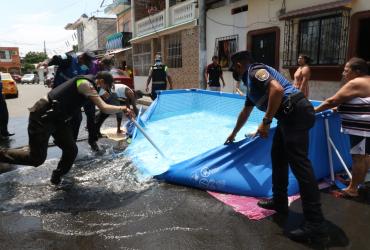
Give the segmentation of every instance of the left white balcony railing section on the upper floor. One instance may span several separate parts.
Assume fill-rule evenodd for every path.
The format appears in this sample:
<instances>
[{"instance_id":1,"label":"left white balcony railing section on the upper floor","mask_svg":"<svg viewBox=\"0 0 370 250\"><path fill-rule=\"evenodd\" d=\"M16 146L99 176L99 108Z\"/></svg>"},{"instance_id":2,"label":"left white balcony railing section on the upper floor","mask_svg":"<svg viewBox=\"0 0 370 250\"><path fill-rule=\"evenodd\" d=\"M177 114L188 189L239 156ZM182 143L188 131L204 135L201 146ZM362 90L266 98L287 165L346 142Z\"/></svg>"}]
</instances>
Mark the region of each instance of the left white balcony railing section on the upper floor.
<instances>
[{"instance_id":1,"label":"left white balcony railing section on the upper floor","mask_svg":"<svg viewBox=\"0 0 370 250\"><path fill-rule=\"evenodd\" d=\"M153 33L165 28L165 12L161 11L136 22L136 36Z\"/></svg>"}]
</instances>

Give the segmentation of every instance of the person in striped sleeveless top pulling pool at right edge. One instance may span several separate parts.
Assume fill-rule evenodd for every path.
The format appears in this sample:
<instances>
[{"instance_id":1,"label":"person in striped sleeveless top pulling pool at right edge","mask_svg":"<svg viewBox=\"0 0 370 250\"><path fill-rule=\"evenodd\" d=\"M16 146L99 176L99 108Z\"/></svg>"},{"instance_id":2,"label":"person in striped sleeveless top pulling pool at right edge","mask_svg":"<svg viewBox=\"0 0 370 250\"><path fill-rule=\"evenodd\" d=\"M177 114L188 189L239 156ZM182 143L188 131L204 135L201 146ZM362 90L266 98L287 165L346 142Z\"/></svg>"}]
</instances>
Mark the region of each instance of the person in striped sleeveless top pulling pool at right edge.
<instances>
[{"instance_id":1,"label":"person in striped sleeveless top pulling pool at right edge","mask_svg":"<svg viewBox=\"0 0 370 250\"><path fill-rule=\"evenodd\" d=\"M370 76L368 64L351 58L345 65L345 84L338 92L315 108L316 112L338 107L342 132L349 135L352 155L352 180L342 190L343 196L358 196L358 186L365 181L370 166Z\"/></svg>"}]
</instances>

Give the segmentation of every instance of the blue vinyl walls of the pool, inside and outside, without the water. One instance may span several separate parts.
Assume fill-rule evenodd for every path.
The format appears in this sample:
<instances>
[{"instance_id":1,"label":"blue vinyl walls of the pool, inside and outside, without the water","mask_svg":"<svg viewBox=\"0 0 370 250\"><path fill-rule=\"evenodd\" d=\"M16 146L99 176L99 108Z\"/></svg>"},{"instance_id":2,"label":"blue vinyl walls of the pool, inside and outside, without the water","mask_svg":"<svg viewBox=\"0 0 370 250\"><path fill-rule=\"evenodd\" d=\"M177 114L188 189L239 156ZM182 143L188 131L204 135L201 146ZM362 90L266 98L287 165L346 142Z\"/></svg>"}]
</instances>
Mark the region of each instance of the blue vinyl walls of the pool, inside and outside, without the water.
<instances>
[{"instance_id":1,"label":"blue vinyl walls of the pool, inside and outside, without the water","mask_svg":"<svg viewBox=\"0 0 370 250\"><path fill-rule=\"evenodd\" d=\"M226 113L234 116L236 121L244 101L244 97L230 93L194 89L161 91L148 110L140 116L139 121L144 126L145 123L179 114L180 111L191 113L199 110ZM314 106L319 104L316 101L312 103ZM263 113L255 109L249 120L261 121L262 117ZM351 166L349 138L340 133L339 115L331 111L319 113L316 115L315 126L310 130L309 146L309 158L317 180L330 175L325 119L329 120L330 136L334 144L345 163ZM258 136L248 137L233 144L220 145L193 158L171 164L166 172L155 178L216 192L270 197L272 195L270 150L275 129L276 121L273 122L267 139ZM130 154L134 155L135 152ZM148 168L138 164L138 168L142 168L143 171ZM333 157L333 165L335 172L343 171L336 157ZM297 192L299 192L298 182L289 171L288 194Z\"/></svg>"}]
</instances>

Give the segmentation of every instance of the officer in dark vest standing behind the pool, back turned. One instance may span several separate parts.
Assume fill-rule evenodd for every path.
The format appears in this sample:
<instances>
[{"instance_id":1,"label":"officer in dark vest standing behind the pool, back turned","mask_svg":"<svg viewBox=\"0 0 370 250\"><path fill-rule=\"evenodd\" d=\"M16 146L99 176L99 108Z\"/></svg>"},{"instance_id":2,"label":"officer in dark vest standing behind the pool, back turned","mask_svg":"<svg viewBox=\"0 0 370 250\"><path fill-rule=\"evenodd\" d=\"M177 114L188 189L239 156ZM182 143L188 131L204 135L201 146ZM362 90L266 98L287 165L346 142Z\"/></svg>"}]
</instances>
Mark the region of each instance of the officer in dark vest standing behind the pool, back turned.
<instances>
[{"instance_id":1,"label":"officer in dark vest standing behind the pool, back turned","mask_svg":"<svg viewBox=\"0 0 370 250\"><path fill-rule=\"evenodd\" d=\"M167 81L170 84L170 89L172 89L172 79L168 74L168 67L162 63L162 57L160 54L155 56L155 64L150 67L149 77L146 82L146 92L149 92L150 81L152 81L152 100L157 98L157 90L167 89Z\"/></svg>"}]
</instances>

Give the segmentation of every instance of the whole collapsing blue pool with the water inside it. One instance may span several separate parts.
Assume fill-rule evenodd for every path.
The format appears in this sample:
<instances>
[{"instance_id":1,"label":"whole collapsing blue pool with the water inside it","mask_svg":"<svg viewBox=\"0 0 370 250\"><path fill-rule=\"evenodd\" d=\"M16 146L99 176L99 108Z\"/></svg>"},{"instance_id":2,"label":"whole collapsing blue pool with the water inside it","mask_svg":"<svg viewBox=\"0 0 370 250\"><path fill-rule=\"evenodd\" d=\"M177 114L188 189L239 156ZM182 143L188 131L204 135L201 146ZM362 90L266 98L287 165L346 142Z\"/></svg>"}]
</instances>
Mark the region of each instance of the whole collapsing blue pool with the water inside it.
<instances>
[{"instance_id":1,"label":"whole collapsing blue pool with the water inside it","mask_svg":"<svg viewBox=\"0 0 370 250\"><path fill-rule=\"evenodd\" d=\"M142 174L160 180L223 193L269 197L270 149L276 122L267 139L245 137L256 131L264 115L255 109L236 142L223 145L243 105L244 97L229 93L193 89L160 92L139 123L167 159L140 132L127 154ZM318 180L330 176L330 166L333 172L343 171L338 156L329 157L328 136L343 162L351 165L349 140L340 133L339 116L332 112L317 114L310 131L309 157ZM288 193L298 191L298 183L290 172Z\"/></svg>"}]
</instances>

